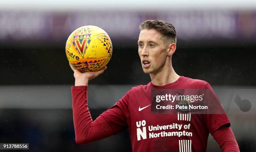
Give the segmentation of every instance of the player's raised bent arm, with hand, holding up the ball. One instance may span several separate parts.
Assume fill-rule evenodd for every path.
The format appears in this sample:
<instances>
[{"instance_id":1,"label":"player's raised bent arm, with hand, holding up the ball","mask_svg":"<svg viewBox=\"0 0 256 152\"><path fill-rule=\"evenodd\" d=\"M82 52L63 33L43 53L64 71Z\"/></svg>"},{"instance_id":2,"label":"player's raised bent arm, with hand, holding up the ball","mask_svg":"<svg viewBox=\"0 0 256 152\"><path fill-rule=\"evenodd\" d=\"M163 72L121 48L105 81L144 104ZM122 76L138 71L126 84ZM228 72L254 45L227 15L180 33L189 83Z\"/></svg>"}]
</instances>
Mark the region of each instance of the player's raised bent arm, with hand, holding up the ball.
<instances>
[{"instance_id":1,"label":"player's raised bent arm, with hand, holding up the ball","mask_svg":"<svg viewBox=\"0 0 256 152\"><path fill-rule=\"evenodd\" d=\"M72 86L72 108L75 139L77 144L86 144L113 134L117 134L126 127L125 115L122 109L115 105L103 112L92 121L87 104L88 81L103 73L103 68L97 72L80 73L71 66L74 71L75 86Z\"/></svg>"}]
</instances>

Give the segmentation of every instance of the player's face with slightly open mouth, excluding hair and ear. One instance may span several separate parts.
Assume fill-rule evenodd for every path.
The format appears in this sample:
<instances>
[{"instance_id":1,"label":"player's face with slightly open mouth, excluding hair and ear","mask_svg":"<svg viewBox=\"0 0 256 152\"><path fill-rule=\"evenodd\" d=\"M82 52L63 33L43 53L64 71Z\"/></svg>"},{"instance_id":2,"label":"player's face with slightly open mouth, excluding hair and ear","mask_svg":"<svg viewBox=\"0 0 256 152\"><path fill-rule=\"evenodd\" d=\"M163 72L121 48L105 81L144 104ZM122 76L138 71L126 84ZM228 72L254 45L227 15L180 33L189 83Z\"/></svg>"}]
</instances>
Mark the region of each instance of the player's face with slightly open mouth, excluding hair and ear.
<instances>
[{"instance_id":1,"label":"player's face with slightly open mouth, excluding hair and ear","mask_svg":"<svg viewBox=\"0 0 256 152\"><path fill-rule=\"evenodd\" d=\"M138 40L138 54L144 73L158 73L165 64L167 45L163 36L155 29L141 30Z\"/></svg>"}]
</instances>

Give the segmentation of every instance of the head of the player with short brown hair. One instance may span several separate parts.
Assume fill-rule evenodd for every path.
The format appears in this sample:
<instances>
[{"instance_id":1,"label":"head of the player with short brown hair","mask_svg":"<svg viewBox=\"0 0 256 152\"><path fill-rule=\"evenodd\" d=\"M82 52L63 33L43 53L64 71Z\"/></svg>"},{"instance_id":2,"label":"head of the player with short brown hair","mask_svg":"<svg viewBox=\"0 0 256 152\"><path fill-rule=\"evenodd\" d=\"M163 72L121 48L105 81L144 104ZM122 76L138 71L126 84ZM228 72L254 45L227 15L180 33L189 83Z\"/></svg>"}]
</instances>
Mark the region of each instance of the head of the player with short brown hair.
<instances>
[{"instance_id":1,"label":"head of the player with short brown hair","mask_svg":"<svg viewBox=\"0 0 256 152\"><path fill-rule=\"evenodd\" d=\"M145 73L158 73L164 66L171 66L176 50L176 31L171 23L146 20L141 23L138 53Z\"/></svg>"}]
</instances>

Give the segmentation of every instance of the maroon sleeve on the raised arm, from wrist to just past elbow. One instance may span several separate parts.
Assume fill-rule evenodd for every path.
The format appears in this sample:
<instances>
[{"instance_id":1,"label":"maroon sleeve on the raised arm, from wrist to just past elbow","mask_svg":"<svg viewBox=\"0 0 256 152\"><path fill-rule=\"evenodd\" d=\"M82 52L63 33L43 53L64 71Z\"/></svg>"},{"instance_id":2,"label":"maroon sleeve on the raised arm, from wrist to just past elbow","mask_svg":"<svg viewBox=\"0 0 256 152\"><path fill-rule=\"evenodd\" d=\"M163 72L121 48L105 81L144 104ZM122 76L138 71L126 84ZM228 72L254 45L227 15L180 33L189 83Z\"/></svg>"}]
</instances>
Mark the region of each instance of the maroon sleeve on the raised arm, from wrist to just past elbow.
<instances>
[{"instance_id":1,"label":"maroon sleeve on the raised arm, from wrist to just past elbow","mask_svg":"<svg viewBox=\"0 0 256 152\"><path fill-rule=\"evenodd\" d=\"M102 116L92 121L87 104L87 86L72 87L72 100L75 139L78 144L86 144L113 134L112 128Z\"/></svg>"}]
</instances>

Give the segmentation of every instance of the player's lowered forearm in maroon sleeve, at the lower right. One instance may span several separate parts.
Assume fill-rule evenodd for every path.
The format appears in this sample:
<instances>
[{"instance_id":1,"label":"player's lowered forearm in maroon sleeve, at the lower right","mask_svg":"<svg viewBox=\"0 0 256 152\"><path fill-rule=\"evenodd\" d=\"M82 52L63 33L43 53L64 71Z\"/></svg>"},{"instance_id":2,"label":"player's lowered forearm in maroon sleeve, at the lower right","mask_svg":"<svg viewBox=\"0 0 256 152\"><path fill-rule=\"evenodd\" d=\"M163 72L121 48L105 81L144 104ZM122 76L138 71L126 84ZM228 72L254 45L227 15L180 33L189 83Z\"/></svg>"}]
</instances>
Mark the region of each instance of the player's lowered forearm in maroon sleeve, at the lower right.
<instances>
[{"instance_id":1,"label":"player's lowered forearm in maroon sleeve, at the lower right","mask_svg":"<svg viewBox=\"0 0 256 152\"><path fill-rule=\"evenodd\" d=\"M231 127L223 127L212 134L223 152L240 152Z\"/></svg>"}]
</instances>

